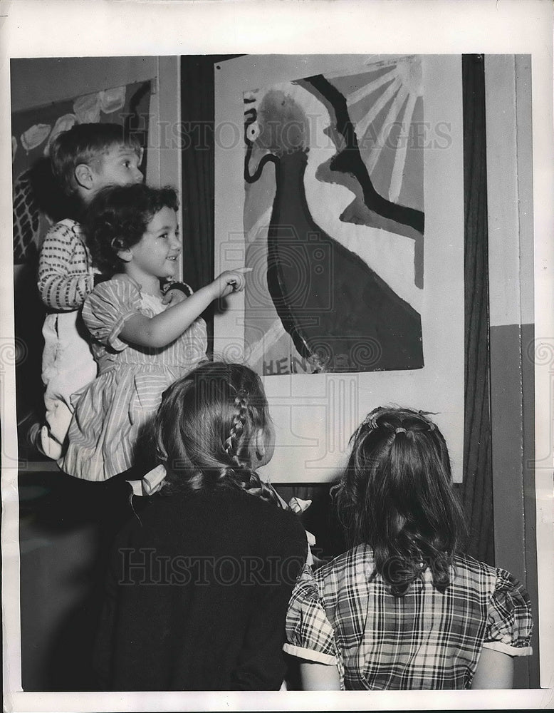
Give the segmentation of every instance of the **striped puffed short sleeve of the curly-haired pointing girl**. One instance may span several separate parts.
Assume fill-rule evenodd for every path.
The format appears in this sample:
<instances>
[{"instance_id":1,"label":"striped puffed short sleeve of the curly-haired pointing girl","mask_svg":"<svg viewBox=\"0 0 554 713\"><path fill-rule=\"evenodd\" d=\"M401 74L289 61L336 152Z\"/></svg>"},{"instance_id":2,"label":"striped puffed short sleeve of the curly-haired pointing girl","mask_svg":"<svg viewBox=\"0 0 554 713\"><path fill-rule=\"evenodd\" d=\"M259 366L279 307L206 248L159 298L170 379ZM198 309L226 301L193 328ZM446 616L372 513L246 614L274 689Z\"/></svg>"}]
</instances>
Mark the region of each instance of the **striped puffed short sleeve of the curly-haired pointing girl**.
<instances>
[{"instance_id":1,"label":"striped puffed short sleeve of the curly-haired pointing girl","mask_svg":"<svg viewBox=\"0 0 554 713\"><path fill-rule=\"evenodd\" d=\"M83 321L98 342L121 352L127 347L119 334L133 314L140 311L140 292L127 280L110 279L98 284L83 305Z\"/></svg>"}]
</instances>

